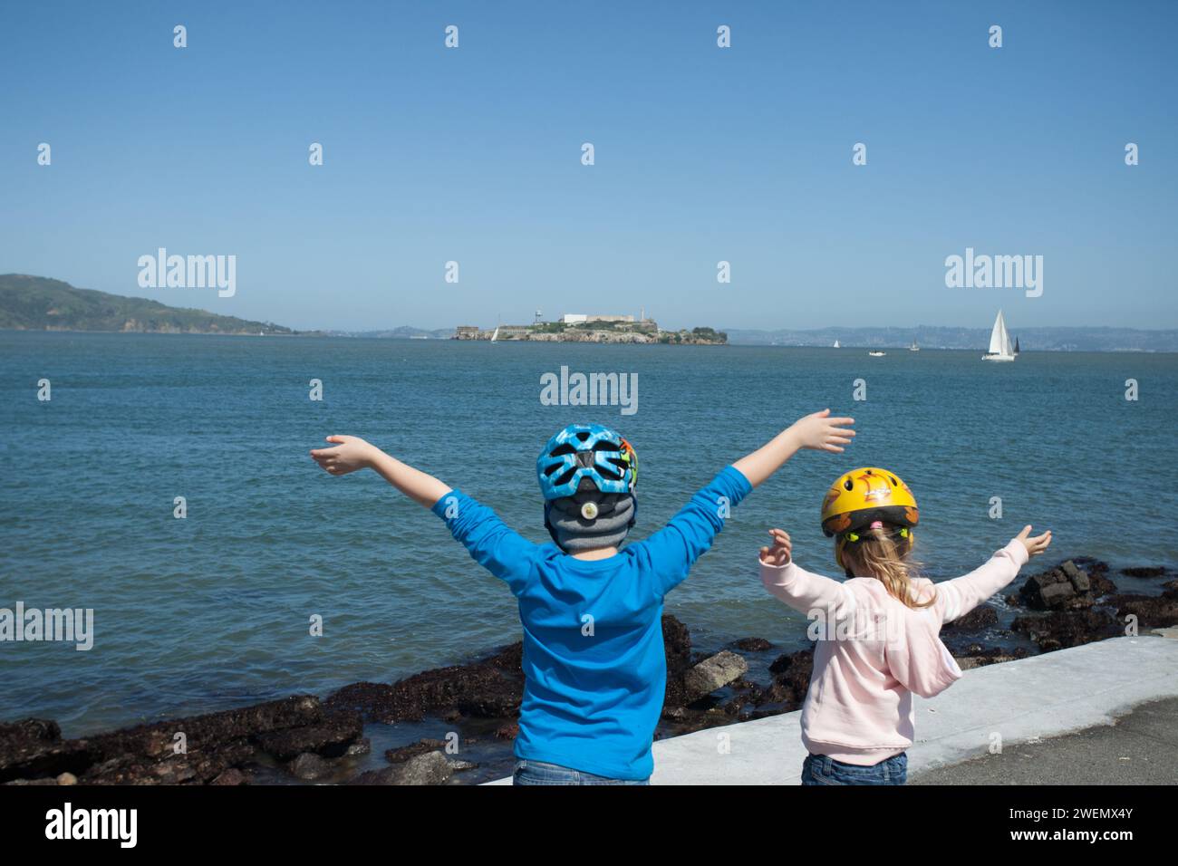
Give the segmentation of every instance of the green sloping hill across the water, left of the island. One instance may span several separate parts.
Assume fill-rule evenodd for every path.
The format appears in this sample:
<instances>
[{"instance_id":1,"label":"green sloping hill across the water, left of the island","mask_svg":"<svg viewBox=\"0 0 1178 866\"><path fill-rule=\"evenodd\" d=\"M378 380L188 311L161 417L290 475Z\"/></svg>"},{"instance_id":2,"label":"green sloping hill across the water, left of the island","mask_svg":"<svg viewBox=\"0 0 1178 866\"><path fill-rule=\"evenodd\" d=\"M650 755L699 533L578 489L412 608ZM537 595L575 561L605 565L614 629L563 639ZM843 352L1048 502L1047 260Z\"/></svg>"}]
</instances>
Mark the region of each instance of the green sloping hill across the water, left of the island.
<instances>
[{"instance_id":1,"label":"green sloping hill across the water, left of the island","mask_svg":"<svg viewBox=\"0 0 1178 866\"><path fill-rule=\"evenodd\" d=\"M60 279L0 275L0 329L21 331L130 331L138 333L298 333L270 322L250 322L205 310L168 306L75 289Z\"/></svg>"}]
</instances>

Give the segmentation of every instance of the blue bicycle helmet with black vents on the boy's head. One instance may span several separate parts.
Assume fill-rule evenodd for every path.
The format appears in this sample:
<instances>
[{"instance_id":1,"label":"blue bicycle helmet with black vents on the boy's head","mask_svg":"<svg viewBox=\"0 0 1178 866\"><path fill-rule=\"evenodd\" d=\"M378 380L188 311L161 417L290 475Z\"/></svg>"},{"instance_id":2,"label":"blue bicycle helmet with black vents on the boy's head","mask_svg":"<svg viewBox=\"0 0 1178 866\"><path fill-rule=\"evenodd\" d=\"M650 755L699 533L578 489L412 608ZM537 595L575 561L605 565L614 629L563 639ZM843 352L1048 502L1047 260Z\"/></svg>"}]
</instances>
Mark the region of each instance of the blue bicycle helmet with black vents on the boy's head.
<instances>
[{"instance_id":1,"label":"blue bicycle helmet with black vents on the boy's head","mask_svg":"<svg viewBox=\"0 0 1178 866\"><path fill-rule=\"evenodd\" d=\"M603 424L569 424L536 460L536 478L549 502L589 489L633 494L637 476L634 448Z\"/></svg>"}]
</instances>

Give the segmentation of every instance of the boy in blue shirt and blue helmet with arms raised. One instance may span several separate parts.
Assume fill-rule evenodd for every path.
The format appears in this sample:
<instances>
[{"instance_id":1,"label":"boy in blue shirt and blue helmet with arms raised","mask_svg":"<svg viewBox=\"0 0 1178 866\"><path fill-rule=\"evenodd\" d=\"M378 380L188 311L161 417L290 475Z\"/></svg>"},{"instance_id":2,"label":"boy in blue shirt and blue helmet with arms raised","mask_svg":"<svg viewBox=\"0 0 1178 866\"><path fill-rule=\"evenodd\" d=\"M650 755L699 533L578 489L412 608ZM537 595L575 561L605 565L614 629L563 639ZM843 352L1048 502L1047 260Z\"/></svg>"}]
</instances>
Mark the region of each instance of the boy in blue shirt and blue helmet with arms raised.
<instances>
[{"instance_id":1,"label":"boy in blue shirt and blue helmet with arms raised","mask_svg":"<svg viewBox=\"0 0 1178 866\"><path fill-rule=\"evenodd\" d=\"M536 476L551 544L534 544L495 513L355 436L311 451L332 475L375 469L445 521L519 603L524 694L517 785L644 785L662 709L663 596L687 577L730 509L802 448L841 452L852 418L823 410L736 461L660 531L618 549L634 525L637 457L616 431L570 424L541 452Z\"/></svg>"}]
</instances>

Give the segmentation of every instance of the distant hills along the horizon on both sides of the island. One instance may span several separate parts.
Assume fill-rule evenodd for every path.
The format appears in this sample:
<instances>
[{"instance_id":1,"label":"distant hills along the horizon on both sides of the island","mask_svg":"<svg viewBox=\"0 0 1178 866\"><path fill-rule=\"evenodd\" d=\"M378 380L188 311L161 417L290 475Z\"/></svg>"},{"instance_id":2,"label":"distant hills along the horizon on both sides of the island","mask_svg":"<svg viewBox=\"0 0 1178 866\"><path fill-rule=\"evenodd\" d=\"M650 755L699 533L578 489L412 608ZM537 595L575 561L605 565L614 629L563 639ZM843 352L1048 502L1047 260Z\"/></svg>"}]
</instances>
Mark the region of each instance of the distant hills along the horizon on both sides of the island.
<instances>
[{"instance_id":1,"label":"distant hills along the horizon on both sides of the island","mask_svg":"<svg viewBox=\"0 0 1178 866\"><path fill-rule=\"evenodd\" d=\"M126 331L138 333L320 335L372 339L448 339L452 328L402 325L377 331L296 331L271 322L219 316L93 289L77 289L47 277L0 275L0 329L35 331ZM722 328L734 345L843 346L900 349L915 341L924 349L985 350L988 328L822 328L776 331ZM1178 330L1134 328L1012 328L1024 351L1178 352Z\"/></svg>"}]
</instances>

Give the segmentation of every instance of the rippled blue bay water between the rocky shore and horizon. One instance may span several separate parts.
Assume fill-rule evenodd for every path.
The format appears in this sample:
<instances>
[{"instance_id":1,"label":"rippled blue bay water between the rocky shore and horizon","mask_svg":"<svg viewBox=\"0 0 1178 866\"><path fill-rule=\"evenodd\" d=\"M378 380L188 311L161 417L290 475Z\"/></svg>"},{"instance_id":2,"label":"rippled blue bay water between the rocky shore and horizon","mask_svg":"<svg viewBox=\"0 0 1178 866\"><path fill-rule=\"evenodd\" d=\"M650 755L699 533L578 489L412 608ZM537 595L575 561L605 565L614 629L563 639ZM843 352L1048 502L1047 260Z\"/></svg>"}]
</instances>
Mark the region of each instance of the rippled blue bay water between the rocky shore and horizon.
<instances>
[{"instance_id":1,"label":"rippled blue bay water between the rocky shore and horizon","mask_svg":"<svg viewBox=\"0 0 1178 866\"><path fill-rule=\"evenodd\" d=\"M541 405L541 375L562 364L637 372L637 415ZM307 450L337 432L547 541L535 457L565 423L615 424L634 443L643 537L798 416L853 415L846 455L795 457L669 596L704 643L799 643L801 621L760 586L756 548L782 525L802 564L833 574L819 505L855 465L913 488L934 576L980 563L1025 522L1055 533L1045 563L1178 562L1173 355L984 364L973 351L0 332L0 607L95 610L88 653L0 643L0 720L55 718L67 735L390 681L518 637L510 594L441 521L375 474L313 464ZM854 403L860 377L868 399ZM323 402L307 398L311 378ZM1126 378L1140 401L1124 399ZM176 496L187 520L172 517ZM312 614L323 637L307 634Z\"/></svg>"}]
</instances>

